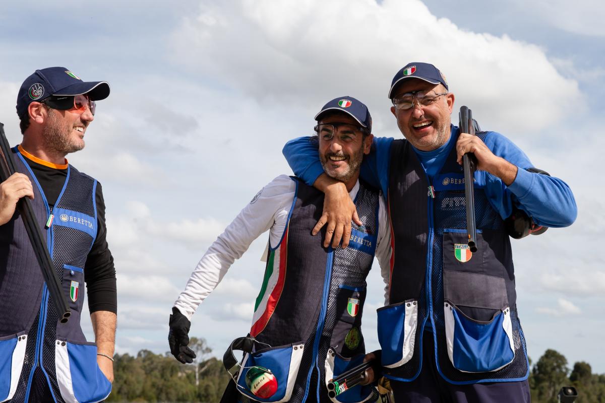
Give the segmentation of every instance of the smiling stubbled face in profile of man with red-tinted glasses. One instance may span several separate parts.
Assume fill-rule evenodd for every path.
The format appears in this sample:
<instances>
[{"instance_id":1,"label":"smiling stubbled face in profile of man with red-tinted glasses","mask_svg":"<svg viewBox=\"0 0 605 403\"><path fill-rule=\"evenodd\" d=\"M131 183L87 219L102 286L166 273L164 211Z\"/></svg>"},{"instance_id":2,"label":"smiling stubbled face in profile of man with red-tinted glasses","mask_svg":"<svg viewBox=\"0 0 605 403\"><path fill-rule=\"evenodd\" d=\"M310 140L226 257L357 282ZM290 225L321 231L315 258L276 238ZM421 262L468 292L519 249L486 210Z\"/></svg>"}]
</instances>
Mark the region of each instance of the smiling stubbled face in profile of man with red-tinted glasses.
<instances>
[{"instance_id":1,"label":"smiling stubbled face in profile of man with red-tinted glasses","mask_svg":"<svg viewBox=\"0 0 605 403\"><path fill-rule=\"evenodd\" d=\"M77 110L59 111L46 108L48 111L42 141L45 149L62 155L84 148L84 134L94 117L90 109L84 112Z\"/></svg>"}]
</instances>

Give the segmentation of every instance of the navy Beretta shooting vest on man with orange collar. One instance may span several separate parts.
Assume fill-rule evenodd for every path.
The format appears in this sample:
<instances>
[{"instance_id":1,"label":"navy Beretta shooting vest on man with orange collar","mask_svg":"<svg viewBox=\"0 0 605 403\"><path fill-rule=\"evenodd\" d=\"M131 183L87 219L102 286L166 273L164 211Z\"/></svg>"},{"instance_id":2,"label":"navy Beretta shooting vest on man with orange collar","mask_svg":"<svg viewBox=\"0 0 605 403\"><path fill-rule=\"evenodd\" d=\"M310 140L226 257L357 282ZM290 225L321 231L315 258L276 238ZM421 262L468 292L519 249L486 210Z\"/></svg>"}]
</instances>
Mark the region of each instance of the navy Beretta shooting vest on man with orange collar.
<instances>
[{"instance_id":1,"label":"navy Beretta shooting vest on man with orange collar","mask_svg":"<svg viewBox=\"0 0 605 403\"><path fill-rule=\"evenodd\" d=\"M97 233L97 181L68 166L65 185L51 210L16 147L13 160L18 172L33 184L31 204L71 317L67 323L59 323L17 211L11 221L0 226L0 362L6 363L0 366L0 402L27 402L36 369L44 372L56 402L102 401L111 384L97 366L95 344L87 342L80 328L84 265Z\"/></svg>"}]
</instances>

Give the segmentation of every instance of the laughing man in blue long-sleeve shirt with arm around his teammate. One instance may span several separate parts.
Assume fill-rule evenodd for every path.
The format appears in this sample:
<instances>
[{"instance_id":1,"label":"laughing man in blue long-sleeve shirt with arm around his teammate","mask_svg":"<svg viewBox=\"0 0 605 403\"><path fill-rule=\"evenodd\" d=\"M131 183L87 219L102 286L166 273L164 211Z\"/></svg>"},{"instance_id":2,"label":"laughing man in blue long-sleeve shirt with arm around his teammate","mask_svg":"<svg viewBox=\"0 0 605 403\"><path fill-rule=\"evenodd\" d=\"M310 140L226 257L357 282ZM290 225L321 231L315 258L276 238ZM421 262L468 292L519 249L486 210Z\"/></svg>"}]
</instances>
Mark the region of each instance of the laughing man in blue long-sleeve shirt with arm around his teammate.
<instances>
[{"instance_id":1,"label":"laughing man in blue long-sleeve shirt with arm around his teammate","mask_svg":"<svg viewBox=\"0 0 605 403\"><path fill-rule=\"evenodd\" d=\"M361 178L388 195L393 225L392 275L387 306L378 312L378 336L395 399L529 402L505 220L518 208L537 225L566 227L577 214L574 196L561 179L540 175L503 135L460 133L451 124L454 94L435 66L408 63L393 78L388 97L405 140L374 138ZM323 175L306 142L289 142L284 154L301 179L336 200L324 208L328 225L335 234L346 232L354 210L335 207L350 202L334 195L342 185ZM476 253L466 240L461 163L468 152L479 169Z\"/></svg>"}]
</instances>

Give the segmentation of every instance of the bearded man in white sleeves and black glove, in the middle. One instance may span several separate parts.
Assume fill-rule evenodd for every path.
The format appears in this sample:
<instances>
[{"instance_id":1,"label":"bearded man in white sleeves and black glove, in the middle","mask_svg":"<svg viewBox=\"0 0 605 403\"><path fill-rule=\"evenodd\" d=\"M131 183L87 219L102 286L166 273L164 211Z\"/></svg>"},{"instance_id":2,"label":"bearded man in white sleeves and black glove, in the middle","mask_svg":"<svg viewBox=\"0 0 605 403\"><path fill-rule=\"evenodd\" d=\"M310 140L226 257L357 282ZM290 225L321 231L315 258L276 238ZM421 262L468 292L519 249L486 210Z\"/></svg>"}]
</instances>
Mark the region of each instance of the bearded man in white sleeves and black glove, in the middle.
<instances>
[{"instance_id":1,"label":"bearded man in white sleeves and black glove, in the middle","mask_svg":"<svg viewBox=\"0 0 605 403\"><path fill-rule=\"evenodd\" d=\"M189 320L234 260L269 230L266 270L250 328L258 352L248 356L243 369L229 370L234 381L224 402L258 399L255 393L263 387L276 388L263 401L330 402L327 381L361 364L365 356L361 334L365 277L376 255L387 282L390 258L384 201L378 190L358 180L372 140L370 112L363 103L345 96L325 104L315 120L316 136L309 144L319 150L322 172L344 185L358 214L350 247L325 248L319 237L311 235L321 217L323 193L298 178L278 176L212 243L172 308L171 352L181 363L191 363L195 354L187 347ZM252 382L249 387L246 378L252 367L271 370L275 379L270 381L275 382ZM370 386L359 385L347 393L347 402L371 402L378 397Z\"/></svg>"}]
</instances>

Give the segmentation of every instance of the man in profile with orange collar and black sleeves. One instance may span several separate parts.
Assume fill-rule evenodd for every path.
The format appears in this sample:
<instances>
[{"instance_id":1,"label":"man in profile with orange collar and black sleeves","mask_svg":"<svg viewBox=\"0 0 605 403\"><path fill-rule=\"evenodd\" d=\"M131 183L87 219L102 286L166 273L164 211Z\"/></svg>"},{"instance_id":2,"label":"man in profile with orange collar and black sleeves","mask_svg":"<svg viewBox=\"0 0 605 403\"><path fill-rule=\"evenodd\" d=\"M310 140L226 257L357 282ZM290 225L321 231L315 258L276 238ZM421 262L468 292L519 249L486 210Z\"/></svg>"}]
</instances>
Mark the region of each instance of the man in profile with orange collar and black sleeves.
<instances>
[{"instance_id":1,"label":"man in profile with orange collar and black sleeves","mask_svg":"<svg viewBox=\"0 0 605 403\"><path fill-rule=\"evenodd\" d=\"M0 184L0 401L98 402L111 392L116 273L106 242L101 185L68 164L84 147L106 82L84 82L64 67L36 70L17 97L23 141L17 172ZM69 302L59 323L16 204L28 197ZM84 283L95 335L80 328Z\"/></svg>"}]
</instances>

